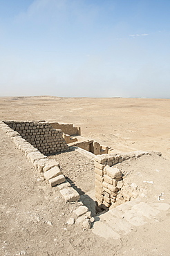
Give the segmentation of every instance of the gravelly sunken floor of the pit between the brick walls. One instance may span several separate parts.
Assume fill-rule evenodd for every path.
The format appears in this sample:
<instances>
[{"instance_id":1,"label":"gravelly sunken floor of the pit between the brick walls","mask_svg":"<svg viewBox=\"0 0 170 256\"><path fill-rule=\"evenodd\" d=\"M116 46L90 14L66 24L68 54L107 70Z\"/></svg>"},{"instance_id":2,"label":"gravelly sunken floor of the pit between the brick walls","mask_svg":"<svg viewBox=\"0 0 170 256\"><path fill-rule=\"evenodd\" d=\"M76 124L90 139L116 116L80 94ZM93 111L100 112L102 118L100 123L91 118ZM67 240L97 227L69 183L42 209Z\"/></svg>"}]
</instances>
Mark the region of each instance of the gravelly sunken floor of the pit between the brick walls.
<instances>
[{"instance_id":1,"label":"gravelly sunken floor of the pit between the brick walls","mask_svg":"<svg viewBox=\"0 0 170 256\"><path fill-rule=\"evenodd\" d=\"M72 187L80 195L80 201L95 216L95 165L88 158L70 147L66 152L48 156L59 162L60 169Z\"/></svg>"}]
</instances>

